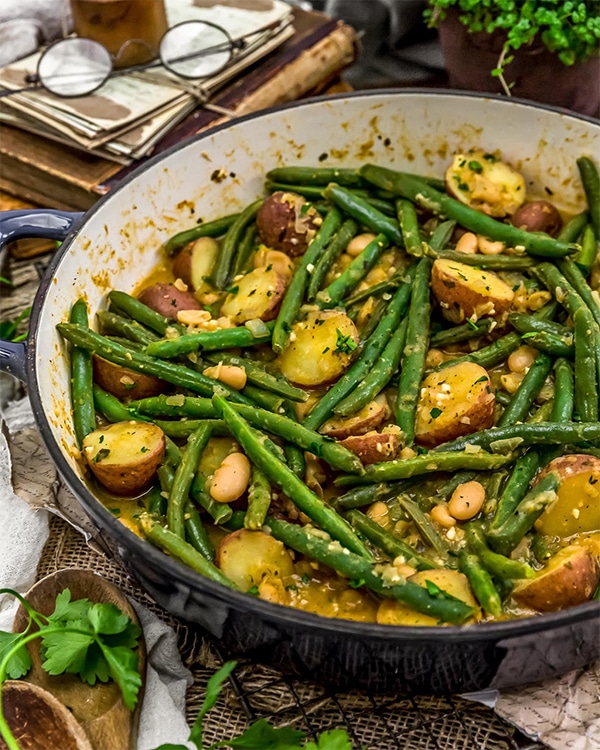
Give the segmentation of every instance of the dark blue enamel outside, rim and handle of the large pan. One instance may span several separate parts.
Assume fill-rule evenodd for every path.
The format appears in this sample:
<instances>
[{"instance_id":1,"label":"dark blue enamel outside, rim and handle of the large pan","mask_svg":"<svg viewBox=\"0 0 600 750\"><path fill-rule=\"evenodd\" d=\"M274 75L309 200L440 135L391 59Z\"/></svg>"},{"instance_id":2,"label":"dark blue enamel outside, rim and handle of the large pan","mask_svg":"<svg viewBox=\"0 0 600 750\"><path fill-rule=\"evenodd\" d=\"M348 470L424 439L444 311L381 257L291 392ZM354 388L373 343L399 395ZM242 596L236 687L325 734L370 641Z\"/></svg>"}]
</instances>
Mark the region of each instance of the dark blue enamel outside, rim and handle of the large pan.
<instances>
[{"instance_id":1,"label":"dark blue enamel outside, rim and handle of the large pan","mask_svg":"<svg viewBox=\"0 0 600 750\"><path fill-rule=\"evenodd\" d=\"M393 97L399 94L397 90L376 93ZM410 90L402 93L423 94ZM464 92L427 91L427 94L459 95L466 100L470 96L481 98ZM365 92L335 98L353 96L365 96ZM306 103L318 101L307 100ZM291 104L280 110L298 106ZM561 113L556 109L552 111ZM238 121L264 114L265 111ZM227 127L221 125L208 134ZM198 139L206 137L205 133ZM168 160L184 145L150 160L123 185L138 179L157 162ZM195 574L123 526L81 483L54 439L48 407L42 403L35 371L36 341L43 333L39 327L40 316L48 296L53 293L54 272L77 236L82 217L87 220L102 211L105 201L100 200L85 217L79 213L44 210L0 215L2 244L32 236L64 239L36 295L27 347L2 342L0 366L27 383L37 424L52 459L96 526L106 550L121 558L142 588L159 604L206 629L231 653L245 654L287 672L341 688L432 693L501 688L554 677L590 663L598 656L598 601L563 612L477 626L396 627L328 619L226 589Z\"/></svg>"}]
</instances>

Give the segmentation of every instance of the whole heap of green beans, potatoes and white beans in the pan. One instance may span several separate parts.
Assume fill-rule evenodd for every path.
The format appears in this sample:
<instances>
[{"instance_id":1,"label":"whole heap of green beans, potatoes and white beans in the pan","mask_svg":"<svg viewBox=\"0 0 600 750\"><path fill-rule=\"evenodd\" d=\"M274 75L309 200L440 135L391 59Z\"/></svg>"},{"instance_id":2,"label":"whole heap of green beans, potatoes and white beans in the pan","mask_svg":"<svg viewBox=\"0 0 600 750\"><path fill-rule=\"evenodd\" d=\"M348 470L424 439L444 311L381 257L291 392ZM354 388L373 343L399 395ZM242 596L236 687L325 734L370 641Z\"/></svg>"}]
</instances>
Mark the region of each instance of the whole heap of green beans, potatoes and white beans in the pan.
<instances>
[{"instance_id":1,"label":"whole heap of green beans, potatoes and white beans in the pan","mask_svg":"<svg viewBox=\"0 0 600 750\"><path fill-rule=\"evenodd\" d=\"M577 167L567 219L476 149L444 180L273 169L170 238L163 281L97 325L77 300L58 330L98 496L199 574L327 616L598 597L600 178Z\"/></svg>"}]
</instances>

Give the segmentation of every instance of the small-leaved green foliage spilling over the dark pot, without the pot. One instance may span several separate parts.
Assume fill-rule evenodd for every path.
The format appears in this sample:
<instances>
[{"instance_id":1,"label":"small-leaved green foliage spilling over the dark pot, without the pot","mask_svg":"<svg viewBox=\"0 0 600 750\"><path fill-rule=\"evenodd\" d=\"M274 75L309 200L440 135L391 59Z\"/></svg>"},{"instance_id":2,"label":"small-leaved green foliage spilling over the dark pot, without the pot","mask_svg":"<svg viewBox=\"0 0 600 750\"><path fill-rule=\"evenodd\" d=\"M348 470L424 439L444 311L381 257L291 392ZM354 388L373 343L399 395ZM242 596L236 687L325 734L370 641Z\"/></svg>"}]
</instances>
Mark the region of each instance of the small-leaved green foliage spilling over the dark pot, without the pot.
<instances>
[{"instance_id":1,"label":"small-leaved green foliage spilling over the dark pot, without the pot","mask_svg":"<svg viewBox=\"0 0 600 750\"><path fill-rule=\"evenodd\" d=\"M460 22L472 33L500 31L505 41L492 75L504 80L514 52L541 42L565 65L598 54L600 14L598 0L429 0L425 18L436 26L449 8L459 11Z\"/></svg>"}]
</instances>

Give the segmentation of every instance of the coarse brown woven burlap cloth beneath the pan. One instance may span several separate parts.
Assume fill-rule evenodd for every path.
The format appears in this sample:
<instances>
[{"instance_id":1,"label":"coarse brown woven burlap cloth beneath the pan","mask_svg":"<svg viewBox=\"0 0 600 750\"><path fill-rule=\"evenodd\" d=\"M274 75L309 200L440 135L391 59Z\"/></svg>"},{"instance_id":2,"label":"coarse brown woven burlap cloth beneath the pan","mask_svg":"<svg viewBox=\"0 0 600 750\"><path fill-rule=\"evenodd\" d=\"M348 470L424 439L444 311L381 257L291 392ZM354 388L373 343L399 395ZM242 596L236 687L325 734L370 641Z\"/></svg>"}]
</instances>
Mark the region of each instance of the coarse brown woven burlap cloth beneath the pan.
<instances>
[{"instance_id":1,"label":"coarse brown woven burlap cloth beneath the pan","mask_svg":"<svg viewBox=\"0 0 600 750\"><path fill-rule=\"evenodd\" d=\"M47 256L32 260L8 258L0 275L8 275L13 286L0 291L0 320L14 317L31 303L47 259ZM182 660L194 678L186 701L187 718L192 722L208 679L228 654L198 629L159 607L139 589L119 562L88 546L78 531L53 516L37 577L70 567L95 570L174 628ZM492 709L458 696L338 693L241 660L217 707L205 719L205 739L216 742L234 737L261 717L276 726L301 729L312 739L325 729L345 727L357 750L542 750L543 747L527 740Z\"/></svg>"}]
</instances>

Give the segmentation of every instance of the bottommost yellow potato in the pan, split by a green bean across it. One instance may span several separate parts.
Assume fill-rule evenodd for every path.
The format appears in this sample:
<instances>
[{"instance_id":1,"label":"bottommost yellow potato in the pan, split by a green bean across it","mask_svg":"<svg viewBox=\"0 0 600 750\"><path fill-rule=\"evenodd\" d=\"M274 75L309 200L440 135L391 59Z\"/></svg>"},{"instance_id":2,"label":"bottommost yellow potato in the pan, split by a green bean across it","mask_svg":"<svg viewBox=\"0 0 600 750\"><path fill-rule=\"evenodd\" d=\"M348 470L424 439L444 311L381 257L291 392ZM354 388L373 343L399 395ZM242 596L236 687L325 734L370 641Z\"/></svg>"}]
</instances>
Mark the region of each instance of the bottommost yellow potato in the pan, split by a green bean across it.
<instances>
[{"instance_id":1,"label":"bottommost yellow potato in the pan, split by a green bean across it","mask_svg":"<svg viewBox=\"0 0 600 750\"><path fill-rule=\"evenodd\" d=\"M475 616L479 613L479 604L473 596L467 577L457 570L421 570L407 580L427 586L427 581L438 586L450 596L460 599L469 607L473 607ZM377 622L381 625L442 625L435 617L415 612L402 602L385 599L377 610Z\"/></svg>"}]
</instances>

